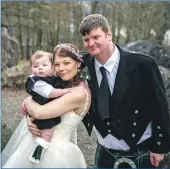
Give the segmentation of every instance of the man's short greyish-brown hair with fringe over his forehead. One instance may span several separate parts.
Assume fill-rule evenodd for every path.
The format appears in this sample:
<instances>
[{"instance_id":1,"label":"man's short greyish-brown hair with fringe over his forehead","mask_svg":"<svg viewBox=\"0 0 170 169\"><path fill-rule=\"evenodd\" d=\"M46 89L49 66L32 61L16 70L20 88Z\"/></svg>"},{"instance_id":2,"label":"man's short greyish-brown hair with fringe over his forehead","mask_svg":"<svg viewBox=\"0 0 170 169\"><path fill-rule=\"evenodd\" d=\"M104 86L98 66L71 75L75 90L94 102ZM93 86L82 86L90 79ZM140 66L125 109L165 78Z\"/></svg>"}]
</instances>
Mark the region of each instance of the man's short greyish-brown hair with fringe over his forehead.
<instances>
[{"instance_id":1,"label":"man's short greyish-brown hair with fringe over his forehead","mask_svg":"<svg viewBox=\"0 0 170 169\"><path fill-rule=\"evenodd\" d=\"M80 23L79 31L82 36L90 34L93 29L101 28L103 32L110 30L108 20L101 14L91 14L86 16Z\"/></svg>"}]
</instances>

